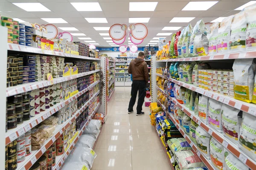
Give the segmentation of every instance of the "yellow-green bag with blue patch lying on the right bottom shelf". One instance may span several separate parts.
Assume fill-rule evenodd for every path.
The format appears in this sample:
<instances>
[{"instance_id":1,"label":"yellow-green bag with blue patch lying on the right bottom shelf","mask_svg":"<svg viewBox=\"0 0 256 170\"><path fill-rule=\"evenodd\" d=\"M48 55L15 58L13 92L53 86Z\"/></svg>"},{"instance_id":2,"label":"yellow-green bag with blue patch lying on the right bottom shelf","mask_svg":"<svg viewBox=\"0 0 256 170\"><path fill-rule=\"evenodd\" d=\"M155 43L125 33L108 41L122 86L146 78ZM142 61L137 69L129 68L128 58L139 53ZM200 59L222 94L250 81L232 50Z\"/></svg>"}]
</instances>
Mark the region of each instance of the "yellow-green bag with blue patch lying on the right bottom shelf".
<instances>
[{"instance_id":1,"label":"yellow-green bag with blue patch lying on the right bottom shelf","mask_svg":"<svg viewBox=\"0 0 256 170\"><path fill-rule=\"evenodd\" d=\"M189 143L185 138L173 138L167 141L169 148L172 150L172 153L175 153L180 150L191 150Z\"/></svg>"}]
</instances>

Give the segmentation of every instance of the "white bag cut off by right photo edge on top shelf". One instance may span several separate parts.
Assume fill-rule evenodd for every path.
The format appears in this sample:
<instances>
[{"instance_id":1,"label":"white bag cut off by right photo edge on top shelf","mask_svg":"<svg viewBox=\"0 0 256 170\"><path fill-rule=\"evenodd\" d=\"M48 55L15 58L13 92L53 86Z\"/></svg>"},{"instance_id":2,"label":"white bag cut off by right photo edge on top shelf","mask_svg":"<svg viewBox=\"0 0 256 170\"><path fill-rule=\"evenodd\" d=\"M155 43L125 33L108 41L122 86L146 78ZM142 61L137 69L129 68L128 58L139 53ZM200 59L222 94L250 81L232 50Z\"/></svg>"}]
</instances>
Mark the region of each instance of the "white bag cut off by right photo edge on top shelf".
<instances>
[{"instance_id":1,"label":"white bag cut off by right photo edge on top shelf","mask_svg":"<svg viewBox=\"0 0 256 170\"><path fill-rule=\"evenodd\" d=\"M256 4L244 8L247 31L246 31L246 50L256 50Z\"/></svg>"}]
</instances>

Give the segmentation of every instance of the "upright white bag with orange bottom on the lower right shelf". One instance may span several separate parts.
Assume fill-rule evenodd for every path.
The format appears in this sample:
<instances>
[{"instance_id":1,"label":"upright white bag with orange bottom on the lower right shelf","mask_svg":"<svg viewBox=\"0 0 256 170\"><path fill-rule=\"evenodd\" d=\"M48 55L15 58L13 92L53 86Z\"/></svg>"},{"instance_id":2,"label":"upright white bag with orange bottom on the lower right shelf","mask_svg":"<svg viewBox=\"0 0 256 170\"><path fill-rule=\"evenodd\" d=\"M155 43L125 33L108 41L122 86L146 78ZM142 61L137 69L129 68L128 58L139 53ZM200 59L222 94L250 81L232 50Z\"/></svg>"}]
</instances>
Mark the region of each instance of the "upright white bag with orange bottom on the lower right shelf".
<instances>
[{"instance_id":1,"label":"upright white bag with orange bottom on the lower right shelf","mask_svg":"<svg viewBox=\"0 0 256 170\"><path fill-rule=\"evenodd\" d=\"M225 169L225 156L224 147L218 141L216 141L212 136L210 137L210 157L212 164L218 170Z\"/></svg>"}]
</instances>

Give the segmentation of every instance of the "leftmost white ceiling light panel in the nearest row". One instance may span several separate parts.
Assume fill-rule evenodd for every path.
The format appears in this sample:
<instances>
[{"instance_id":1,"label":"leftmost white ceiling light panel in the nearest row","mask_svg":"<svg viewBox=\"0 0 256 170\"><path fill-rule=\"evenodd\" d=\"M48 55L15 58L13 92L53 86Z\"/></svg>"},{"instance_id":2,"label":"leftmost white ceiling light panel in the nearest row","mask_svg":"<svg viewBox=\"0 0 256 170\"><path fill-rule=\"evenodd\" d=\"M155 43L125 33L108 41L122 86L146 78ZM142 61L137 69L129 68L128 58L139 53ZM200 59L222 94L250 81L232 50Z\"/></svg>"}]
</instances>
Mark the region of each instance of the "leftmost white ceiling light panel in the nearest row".
<instances>
[{"instance_id":1,"label":"leftmost white ceiling light panel in the nearest row","mask_svg":"<svg viewBox=\"0 0 256 170\"><path fill-rule=\"evenodd\" d=\"M12 4L28 12L50 11L41 3L12 3Z\"/></svg>"}]
</instances>

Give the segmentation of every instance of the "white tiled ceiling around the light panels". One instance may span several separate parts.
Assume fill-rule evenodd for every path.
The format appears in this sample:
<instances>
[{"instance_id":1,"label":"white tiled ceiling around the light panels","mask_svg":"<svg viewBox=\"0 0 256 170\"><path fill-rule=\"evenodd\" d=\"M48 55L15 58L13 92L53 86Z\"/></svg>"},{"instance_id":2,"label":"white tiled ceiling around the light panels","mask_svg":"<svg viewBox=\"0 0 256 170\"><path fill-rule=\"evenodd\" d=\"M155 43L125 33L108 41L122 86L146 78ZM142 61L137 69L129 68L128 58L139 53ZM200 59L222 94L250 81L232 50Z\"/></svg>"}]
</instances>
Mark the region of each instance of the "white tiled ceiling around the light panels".
<instances>
[{"instance_id":1,"label":"white tiled ceiling around the light panels","mask_svg":"<svg viewBox=\"0 0 256 170\"><path fill-rule=\"evenodd\" d=\"M195 17L190 23L192 26L198 20L203 19L205 23L211 22L218 17L227 17L238 13L234 10L249 1L241 0L219 0L218 3L206 11L182 11L190 1L209 1L209 0L0 0L0 14L6 17L19 18L26 22L47 24L41 18L62 18L67 23L56 23L57 27L75 27L79 31L69 31L70 33L84 33L86 36L73 36L74 41L81 41L78 37L90 37L100 47L110 47L109 43L103 39L99 33L108 33L108 31L96 31L93 27L110 27L113 24L126 24L129 26L129 17L150 17L148 23L148 36L142 44L147 45L154 37L166 37L171 40L171 36L157 36L158 33L176 32L162 31L166 26L180 26L182 30L189 23L169 23L173 17ZM102 11L77 11L71 3L73 2L98 2ZM129 2L158 2L154 11L129 11ZM50 11L28 12L15 6L12 3L41 3ZM143 6L141 7L143 8ZM106 18L108 23L88 23L84 18ZM59 31L62 31L59 29ZM109 40L108 40L109 41ZM86 43L86 42L84 42ZM86 43L89 44L89 43ZM125 41L128 44L128 40Z\"/></svg>"}]
</instances>

